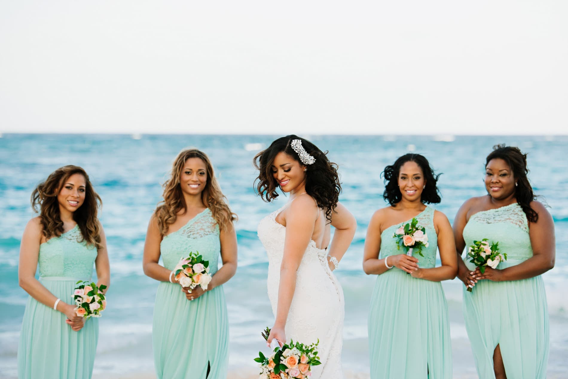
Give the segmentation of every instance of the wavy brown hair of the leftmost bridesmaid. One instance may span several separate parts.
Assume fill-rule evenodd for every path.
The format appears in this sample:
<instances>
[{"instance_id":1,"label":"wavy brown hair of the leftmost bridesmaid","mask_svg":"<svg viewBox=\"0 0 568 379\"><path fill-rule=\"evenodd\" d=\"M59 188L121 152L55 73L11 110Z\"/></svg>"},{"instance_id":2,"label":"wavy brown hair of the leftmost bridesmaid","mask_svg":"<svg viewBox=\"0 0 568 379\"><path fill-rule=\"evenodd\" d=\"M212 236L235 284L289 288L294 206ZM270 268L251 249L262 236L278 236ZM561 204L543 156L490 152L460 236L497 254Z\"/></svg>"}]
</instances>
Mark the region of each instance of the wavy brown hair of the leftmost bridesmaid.
<instances>
[{"instance_id":1,"label":"wavy brown hair of the leftmost bridesmaid","mask_svg":"<svg viewBox=\"0 0 568 379\"><path fill-rule=\"evenodd\" d=\"M87 244L99 249L102 245L97 213L102 201L93 189L89 176L81 167L63 166L49 174L47 179L37 185L32 192L32 208L36 213L39 213L45 239L59 237L63 233L63 222L59 214L57 195L63 188L65 181L73 174L81 174L85 177L85 201L74 211L73 220L81 230L82 241L86 241Z\"/></svg>"}]
</instances>

